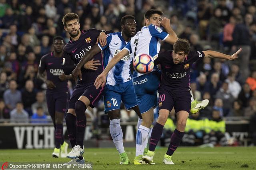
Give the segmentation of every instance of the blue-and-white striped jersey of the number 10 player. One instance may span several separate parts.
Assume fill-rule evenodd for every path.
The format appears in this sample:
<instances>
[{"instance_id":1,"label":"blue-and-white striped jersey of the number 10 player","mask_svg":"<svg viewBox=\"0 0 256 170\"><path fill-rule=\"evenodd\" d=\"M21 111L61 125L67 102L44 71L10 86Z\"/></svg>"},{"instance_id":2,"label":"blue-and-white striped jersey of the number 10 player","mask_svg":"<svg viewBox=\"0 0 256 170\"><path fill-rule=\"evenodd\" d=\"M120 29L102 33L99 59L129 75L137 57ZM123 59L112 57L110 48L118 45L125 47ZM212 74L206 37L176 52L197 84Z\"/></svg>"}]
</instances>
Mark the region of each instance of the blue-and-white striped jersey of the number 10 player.
<instances>
[{"instance_id":1,"label":"blue-and-white striped jersey of the number 10 player","mask_svg":"<svg viewBox=\"0 0 256 170\"><path fill-rule=\"evenodd\" d=\"M104 68L108 65L108 62L114 57L114 55L118 54L127 44L122 38L121 32L110 33L107 36L107 45L101 47L100 43L98 46L103 51L103 65ZM131 71L130 71L130 63L132 61L131 55L127 55L123 57L116 65L109 71L106 84L109 85L117 85L121 83L125 83L132 79Z\"/></svg>"}]
</instances>

